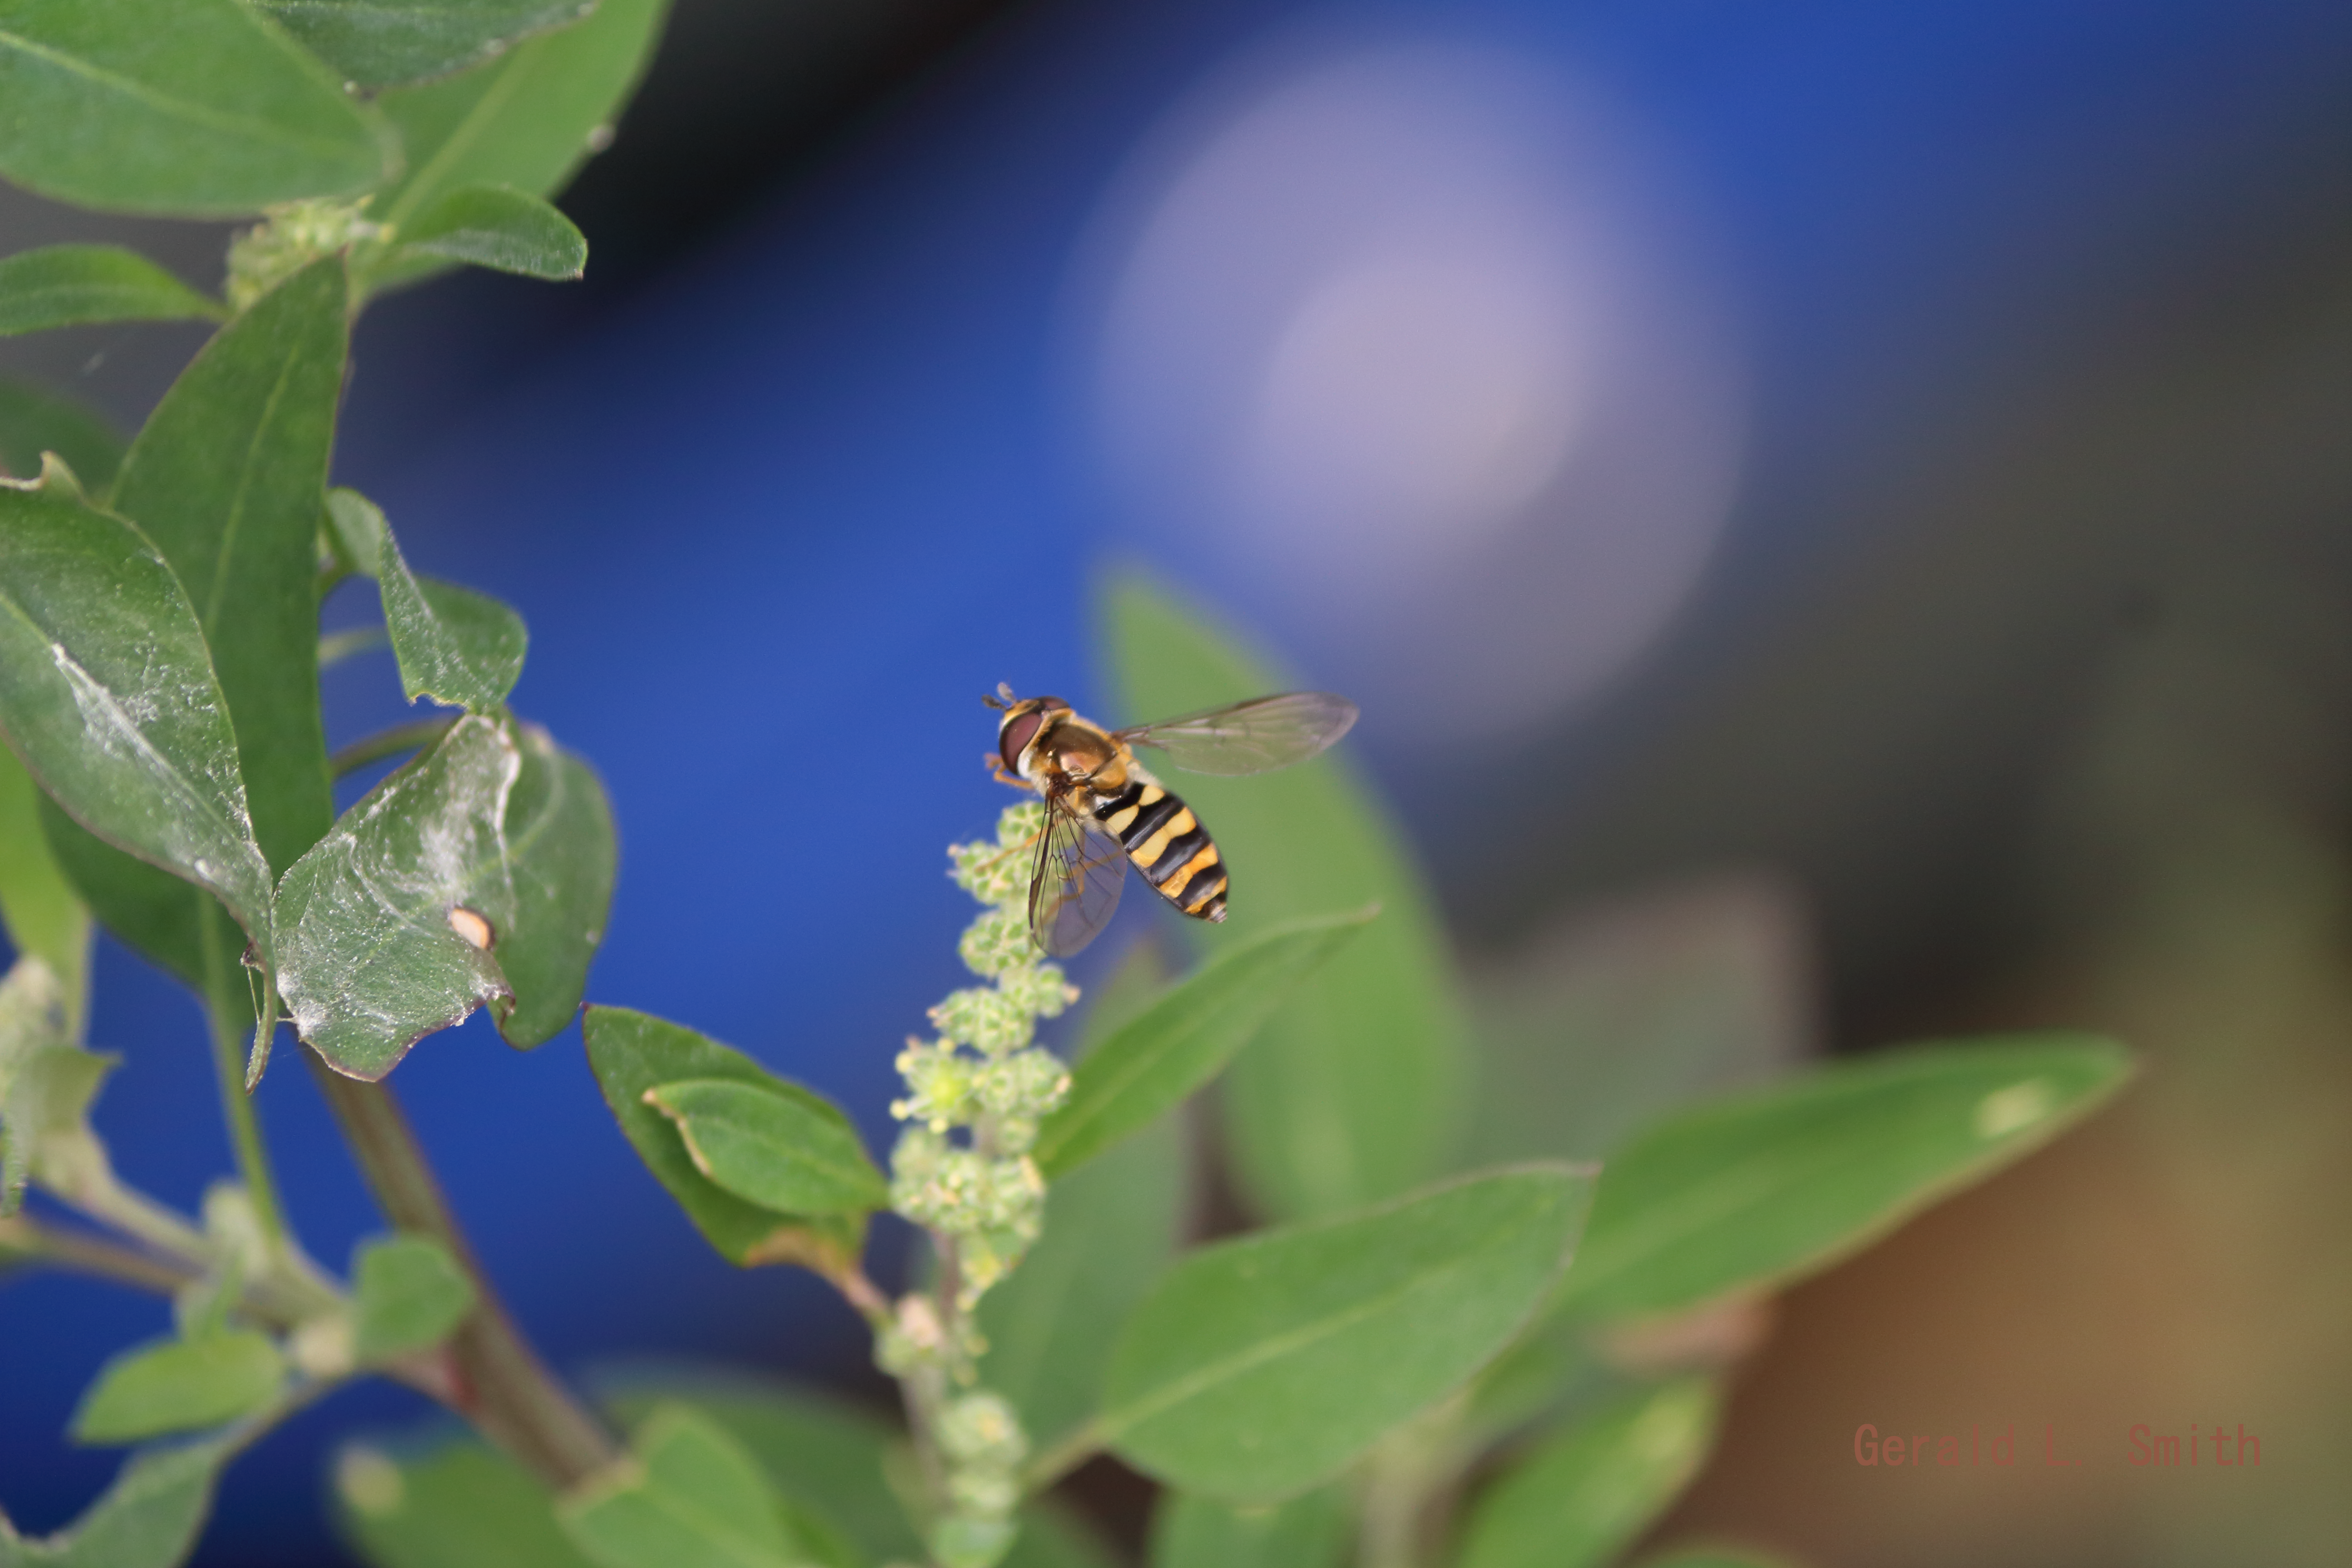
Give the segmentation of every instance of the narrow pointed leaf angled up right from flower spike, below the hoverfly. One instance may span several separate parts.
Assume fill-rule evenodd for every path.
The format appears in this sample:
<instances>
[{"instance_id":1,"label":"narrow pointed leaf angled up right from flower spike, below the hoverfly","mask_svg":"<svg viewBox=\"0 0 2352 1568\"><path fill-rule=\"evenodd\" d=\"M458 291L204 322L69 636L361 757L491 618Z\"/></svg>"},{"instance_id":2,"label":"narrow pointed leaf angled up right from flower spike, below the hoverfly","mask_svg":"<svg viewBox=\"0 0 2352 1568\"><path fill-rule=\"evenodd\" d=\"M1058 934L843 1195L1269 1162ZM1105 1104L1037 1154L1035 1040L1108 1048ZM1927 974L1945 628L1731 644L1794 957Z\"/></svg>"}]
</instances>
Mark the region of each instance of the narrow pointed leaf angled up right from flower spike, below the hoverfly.
<instances>
[{"instance_id":1,"label":"narrow pointed leaf angled up right from flower spike, below the hoverfly","mask_svg":"<svg viewBox=\"0 0 2352 1568\"><path fill-rule=\"evenodd\" d=\"M1261 931L1164 990L1077 1063L1070 1098L1037 1131L1037 1168L1061 1178L1183 1105L1371 917L1324 914Z\"/></svg>"}]
</instances>

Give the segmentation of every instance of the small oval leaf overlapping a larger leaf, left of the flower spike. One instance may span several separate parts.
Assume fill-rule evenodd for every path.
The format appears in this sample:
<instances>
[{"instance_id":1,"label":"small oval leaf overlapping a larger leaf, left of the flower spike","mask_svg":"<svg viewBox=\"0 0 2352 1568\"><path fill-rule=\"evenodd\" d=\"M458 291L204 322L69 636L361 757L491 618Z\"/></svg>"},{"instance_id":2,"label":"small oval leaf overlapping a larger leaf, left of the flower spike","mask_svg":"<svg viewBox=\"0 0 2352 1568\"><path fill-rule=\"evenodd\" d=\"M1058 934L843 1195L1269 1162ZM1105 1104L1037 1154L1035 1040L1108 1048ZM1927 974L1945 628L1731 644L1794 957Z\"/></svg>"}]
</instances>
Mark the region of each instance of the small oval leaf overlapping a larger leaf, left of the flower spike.
<instances>
[{"instance_id":1,"label":"small oval leaf overlapping a larger leaf, left of the flower spike","mask_svg":"<svg viewBox=\"0 0 2352 1568\"><path fill-rule=\"evenodd\" d=\"M868 1213L889 1182L858 1128L823 1095L779 1079L684 1079L644 1091L677 1124L694 1168L727 1192L781 1213Z\"/></svg>"}]
</instances>

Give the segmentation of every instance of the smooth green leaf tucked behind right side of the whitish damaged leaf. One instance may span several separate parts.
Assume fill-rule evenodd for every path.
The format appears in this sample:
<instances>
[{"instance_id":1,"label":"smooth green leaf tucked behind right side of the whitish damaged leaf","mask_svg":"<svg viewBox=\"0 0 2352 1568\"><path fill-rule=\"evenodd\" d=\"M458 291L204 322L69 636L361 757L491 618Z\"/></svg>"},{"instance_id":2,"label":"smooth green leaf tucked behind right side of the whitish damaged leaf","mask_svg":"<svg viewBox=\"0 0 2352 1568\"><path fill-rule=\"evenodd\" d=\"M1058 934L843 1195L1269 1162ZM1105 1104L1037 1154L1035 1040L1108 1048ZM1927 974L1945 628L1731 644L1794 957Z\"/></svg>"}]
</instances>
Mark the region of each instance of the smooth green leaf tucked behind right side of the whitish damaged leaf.
<instances>
[{"instance_id":1,"label":"smooth green leaf tucked behind right side of the whitish damaged leaf","mask_svg":"<svg viewBox=\"0 0 2352 1568\"><path fill-rule=\"evenodd\" d=\"M536 724L513 729L522 743L522 771L506 795L513 922L496 947L508 994L489 1011L506 1044L529 1051L579 1013L612 912L619 844L595 769Z\"/></svg>"}]
</instances>

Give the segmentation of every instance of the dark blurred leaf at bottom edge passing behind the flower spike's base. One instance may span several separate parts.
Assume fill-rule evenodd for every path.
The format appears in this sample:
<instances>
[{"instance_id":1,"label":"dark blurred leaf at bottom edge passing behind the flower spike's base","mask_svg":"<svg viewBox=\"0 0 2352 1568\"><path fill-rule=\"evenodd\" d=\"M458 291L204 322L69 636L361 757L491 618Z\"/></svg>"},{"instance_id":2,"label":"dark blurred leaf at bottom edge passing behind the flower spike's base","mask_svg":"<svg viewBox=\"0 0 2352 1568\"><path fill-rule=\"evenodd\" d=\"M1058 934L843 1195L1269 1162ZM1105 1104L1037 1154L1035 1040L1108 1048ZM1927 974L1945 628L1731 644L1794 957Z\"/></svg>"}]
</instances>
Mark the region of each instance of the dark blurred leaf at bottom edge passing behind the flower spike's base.
<instances>
[{"instance_id":1,"label":"dark blurred leaf at bottom edge passing behind the flower spike's base","mask_svg":"<svg viewBox=\"0 0 2352 1568\"><path fill-rule=\"evenodd\" d=\"M776 1493L797 1509L804 1533L821 1523L870 1563L924 1561L922 1537L887 1481L894 1443L903 1446L896 1427L826 1394L762 1382L741 1371L668 1373L621 1394L614 1406L642 1413L663 1399L691 1401L727 1427L767 1467ZM1021 1509L1021 1537L997 1568L1112 1563L1091 1530L1042 1500Z\"/></svg>"}]
</instances>

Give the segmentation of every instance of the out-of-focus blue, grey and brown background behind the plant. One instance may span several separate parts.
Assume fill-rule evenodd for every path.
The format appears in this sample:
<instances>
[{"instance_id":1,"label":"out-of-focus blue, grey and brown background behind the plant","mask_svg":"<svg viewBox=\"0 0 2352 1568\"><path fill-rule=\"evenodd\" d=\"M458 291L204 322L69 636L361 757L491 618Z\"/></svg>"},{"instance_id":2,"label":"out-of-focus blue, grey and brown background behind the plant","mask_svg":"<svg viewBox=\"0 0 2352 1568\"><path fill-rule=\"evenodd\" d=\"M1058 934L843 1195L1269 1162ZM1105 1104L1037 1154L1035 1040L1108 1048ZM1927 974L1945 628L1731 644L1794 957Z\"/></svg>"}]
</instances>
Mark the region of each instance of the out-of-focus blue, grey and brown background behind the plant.
<instances>
[{"instance_id":1,"label":"out-of-focus blue, grey and brown background behind the plant","mask_svg":"<svg viewBox=\"0 0 2352 1568\"><path fill-rule=\"evenodd\" d=\"M1472 961L1762 865L1811 910L1832 1048L2178 1046L2178 1095L2063 1178L2091 1199L1994 1190L1940 1253L1799 1293L1689 1519L1823 1563L2340 1561L2352 1406L2279 1389L2352 1387L2317 1309L2352 1284L2347 101L2321 2L680 0L567 197L590 282L379 306L339 480L529 618L515 705L623 835L590 997L877 1138L955 983L941 846L1004 799L978 693L1098 705L1089 592L1136 559L1362 701ZM66 233L219 268L216 230L0 202L0 249ZM89 329L0 369L134 428L191 346ZM327 701L334 738L400 712L383 658ZM1529 778L1541 825L1498 809ZM2183 969L2277 931L2293 961ZM2286 971L2293 1018L2232 1034ZM92 1034L127 1058L118 1164L193 1204L226 1168L193 1006L108 947ZM477 1020L397 1088L560 1366L861 1380L847 1312L731 1272L644 1178L576 1032L517 1056ZM261 1114L339 1262L374 1215L310 1081ZM2042 1328L1987 1328L2058 1276ZM2178 1279L2237 1307L2166 1319ZM1903 1312L1929 1328L1872 1328ZM0 1291L21 1526L103 1486L56 1434L165 1321ZM2201 1382L2164 1380L2183 1356ZM1889 1502L1797 1439L1999 1368L2042 1368L2018 1420L2270 1410L2300 1481ZM202 1561L332 1561L322 1455L414 1415L350 1392L273 1434Z\"/></svg>"}]
</instances>

